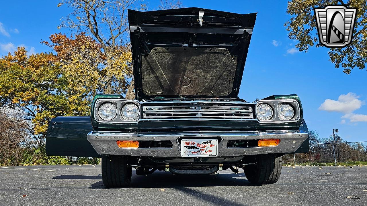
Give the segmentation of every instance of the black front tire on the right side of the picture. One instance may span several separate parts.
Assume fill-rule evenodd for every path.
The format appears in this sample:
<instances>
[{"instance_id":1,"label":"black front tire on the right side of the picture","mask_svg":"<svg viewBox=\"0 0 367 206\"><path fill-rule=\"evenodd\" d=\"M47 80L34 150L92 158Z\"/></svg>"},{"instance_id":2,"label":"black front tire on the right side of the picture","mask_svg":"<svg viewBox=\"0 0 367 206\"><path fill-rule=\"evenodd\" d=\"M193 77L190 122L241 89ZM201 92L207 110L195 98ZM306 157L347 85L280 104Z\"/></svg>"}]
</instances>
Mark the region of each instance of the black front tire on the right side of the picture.
<instances>
[{"instance_id":1,"label":"black front tire on the right side of the picture","mask_svg":"<svg viewBox=\"0 0 367 206\"><path fill-rule=\"evenodd\" d=\"M274 184L279 180L281 173L281 157L256 155L255 165L243 168L247 180L252 184Z\"/></svg>"}]
</instances>

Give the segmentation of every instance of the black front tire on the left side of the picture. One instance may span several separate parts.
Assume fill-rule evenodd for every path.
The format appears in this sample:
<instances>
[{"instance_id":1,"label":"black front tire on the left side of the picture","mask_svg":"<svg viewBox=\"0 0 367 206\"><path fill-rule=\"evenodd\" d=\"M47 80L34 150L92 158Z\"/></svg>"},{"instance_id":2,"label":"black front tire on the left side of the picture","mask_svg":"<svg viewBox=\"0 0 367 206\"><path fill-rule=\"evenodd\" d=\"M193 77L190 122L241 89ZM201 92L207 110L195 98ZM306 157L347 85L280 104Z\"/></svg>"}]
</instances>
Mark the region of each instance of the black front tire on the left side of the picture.
<instances>
[{"instance_id":1,"label":"black front tire on the left side of the picture","mask_svg":"<svg viewBox=\"0 0 367 206\"><path fill-rule=\"evenodd\" d=\"M106 187L127 187L131 181L132 167L127 167L127 157L102 155L102 181Z\"/></svg>"}]
</instances>

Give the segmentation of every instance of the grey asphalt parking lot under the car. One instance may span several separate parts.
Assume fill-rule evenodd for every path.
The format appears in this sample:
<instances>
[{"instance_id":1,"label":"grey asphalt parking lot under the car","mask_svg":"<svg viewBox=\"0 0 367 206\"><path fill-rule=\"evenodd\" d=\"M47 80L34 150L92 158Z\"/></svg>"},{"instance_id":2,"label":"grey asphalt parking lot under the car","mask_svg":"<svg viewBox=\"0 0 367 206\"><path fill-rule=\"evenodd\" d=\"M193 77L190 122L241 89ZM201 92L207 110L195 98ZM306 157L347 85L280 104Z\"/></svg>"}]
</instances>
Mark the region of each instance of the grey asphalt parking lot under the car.
<instances>
[{"instance_id":1,"label":"grey asphalt parking lot under the car","mask_svg":"<svg viewBox=\"0 0 367 206\"><path fill-rule=\"evenodd\" d=\"M319 168L283 166L273 185L251 185L243 172L230 170L210 176L133 170L130 188L105 188L100 165L0 167L0 205L367 205L366 166ZM346 198L352 195L360 199Z\"/></svg>"}]
</instances>

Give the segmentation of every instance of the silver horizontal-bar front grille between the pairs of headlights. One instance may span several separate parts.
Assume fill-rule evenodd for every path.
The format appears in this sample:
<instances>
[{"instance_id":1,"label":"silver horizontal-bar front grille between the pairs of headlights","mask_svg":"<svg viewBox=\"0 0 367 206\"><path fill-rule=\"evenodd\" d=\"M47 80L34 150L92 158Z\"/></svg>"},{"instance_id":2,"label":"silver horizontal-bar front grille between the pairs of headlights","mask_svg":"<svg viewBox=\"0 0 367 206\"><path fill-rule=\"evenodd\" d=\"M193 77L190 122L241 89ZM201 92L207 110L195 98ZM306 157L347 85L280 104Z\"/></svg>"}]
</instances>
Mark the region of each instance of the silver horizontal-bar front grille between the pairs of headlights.
<instances>
[{"instance_id":1,"label":"silver horizontal-bar front grille between the pairs of headlights","mask_svg":"<svg viewBox=\"0 0 367 206\"><path fill-rule=\"evenodd\" d=\"M183 105L182 105L183 104ZM252 106L218 103L185 103L143 106L143 119L253 119Z\"/></svg>"}]
</instances>

